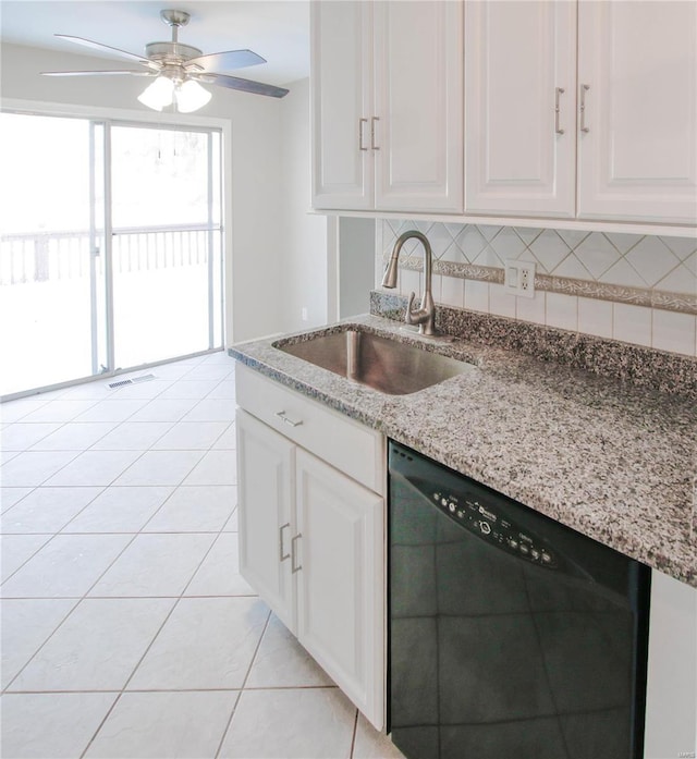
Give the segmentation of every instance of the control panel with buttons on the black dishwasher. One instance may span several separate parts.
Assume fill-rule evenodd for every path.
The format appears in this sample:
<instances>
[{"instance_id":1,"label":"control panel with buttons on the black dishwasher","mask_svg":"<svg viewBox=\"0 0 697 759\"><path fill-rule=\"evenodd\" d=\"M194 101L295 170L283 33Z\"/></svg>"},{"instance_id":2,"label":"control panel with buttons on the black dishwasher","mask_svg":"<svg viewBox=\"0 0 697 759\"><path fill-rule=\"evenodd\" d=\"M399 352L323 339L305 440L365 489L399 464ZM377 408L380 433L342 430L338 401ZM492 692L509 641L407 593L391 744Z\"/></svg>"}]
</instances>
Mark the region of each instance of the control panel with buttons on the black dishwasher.
<instances>
[{"instance_id":1,"label":"control panel with buttons on the black dishwasher","mask_svg":"<svg viewBox=\"0 0 697 759\"><path fill-rule=\"evenodd\" d=\"M549 546L529 531L523 531L515 523L494 512L490 505L466 495L447 491L433 491L431 501L455 522L482 540L533 564L555 568L559 561Z\"/></svg>"}]
</instances>

